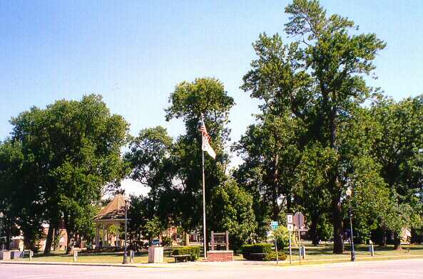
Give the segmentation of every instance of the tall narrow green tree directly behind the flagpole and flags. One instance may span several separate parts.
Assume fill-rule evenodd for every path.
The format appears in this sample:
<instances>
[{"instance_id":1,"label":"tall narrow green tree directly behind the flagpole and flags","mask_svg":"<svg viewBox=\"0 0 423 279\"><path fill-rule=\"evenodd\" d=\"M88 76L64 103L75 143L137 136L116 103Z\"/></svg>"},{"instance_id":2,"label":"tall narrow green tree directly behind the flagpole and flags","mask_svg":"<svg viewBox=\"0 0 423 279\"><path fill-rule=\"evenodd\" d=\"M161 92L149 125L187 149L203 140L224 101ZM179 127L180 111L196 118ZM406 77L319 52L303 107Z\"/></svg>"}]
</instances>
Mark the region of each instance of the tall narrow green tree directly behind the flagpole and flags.
<instances>
[{"instance_id":1,"label":"tall narrow green tree directly behind the flagpole and flags","mask_svg":"<svg viewBox=\"0 0 423 279\"><path fill-rule=\"evenodd\" d=\"M234 101L219 80L198 78L192 83L184 81L176 85L169 102L170 107L165 110L166 120L182 119L185 134L173 144L169 158L173 168L173 186L163 193L166 198L162 200L177 205L173 220L178 221L184 231L190 231L200 225L203 211L198 120L203 113L211 146L217 154L216 159L205 154L205 199L206 204L209 204L213 189L226 179L225 169L229 156L225 152L225 144L230 133L227 127L229 110ZM215 214L210 206L207 213L210 218Z\"/></svg>"}]
</instances>

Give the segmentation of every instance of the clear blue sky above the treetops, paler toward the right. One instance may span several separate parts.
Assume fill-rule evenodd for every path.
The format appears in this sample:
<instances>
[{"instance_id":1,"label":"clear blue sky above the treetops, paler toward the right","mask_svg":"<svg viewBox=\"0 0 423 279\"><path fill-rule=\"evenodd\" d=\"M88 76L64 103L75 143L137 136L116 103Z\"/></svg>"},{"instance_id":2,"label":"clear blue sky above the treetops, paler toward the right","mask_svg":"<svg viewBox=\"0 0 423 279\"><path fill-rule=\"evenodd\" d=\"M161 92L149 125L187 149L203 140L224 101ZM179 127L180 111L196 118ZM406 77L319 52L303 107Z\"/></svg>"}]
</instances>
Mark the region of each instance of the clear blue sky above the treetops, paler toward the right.
<instances>
[{"instance_id":1,"label":"clear blue sky above the treetops, paler toward the right","mask_svg":"<svg viewBox=\"0 0 423 279\"><path fill-rule=\"evenodd\" d=\"M9 120L31 106L101 93L131 134L178 120L163 109L177 83L223 81L237 105L233 140L253 122L257 102L239 86L259 33L283 33L288 1L6 1L0 0L0 140ZM423 1L322 0L387 48L376 60L380 86L396 100L423 93Z\"/></svg>"}]
</instances>

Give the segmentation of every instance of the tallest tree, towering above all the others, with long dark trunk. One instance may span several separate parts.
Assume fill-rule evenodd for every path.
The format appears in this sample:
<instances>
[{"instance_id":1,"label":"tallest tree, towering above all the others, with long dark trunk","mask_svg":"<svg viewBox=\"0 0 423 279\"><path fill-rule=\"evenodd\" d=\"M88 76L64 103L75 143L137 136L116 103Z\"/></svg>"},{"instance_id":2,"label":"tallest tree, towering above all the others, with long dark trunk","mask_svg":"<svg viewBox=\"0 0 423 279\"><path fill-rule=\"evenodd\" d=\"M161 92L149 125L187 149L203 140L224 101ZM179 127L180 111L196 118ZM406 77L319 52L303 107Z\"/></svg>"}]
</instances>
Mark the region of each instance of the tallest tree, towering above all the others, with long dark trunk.
<instances>
[{"instance_id":1,"label":"tallest tree, towering above all the others, with long dark trunk","mask_svg":"<svg viewBox=\"0 0 423 279\"><path fill-rule=\"evenodd\" d=\"M287 35L297 42L284 46L279 36L265 34L255 43L258 60L245 75L243 88L253 98L275 100L309 127L310 138L338 153L340 115L364 102L372 93L365 75L374 70L377 52L385 43L373 33L358 34L354 22L339 15L327 16L318 1L294 0L285 8L290 21ZM270 99L268 97L270 96ZM334 253L342 253L341 196L345 184L338 162L328 170L326 187L331 194Z\"/></svg>"}]
</instances>

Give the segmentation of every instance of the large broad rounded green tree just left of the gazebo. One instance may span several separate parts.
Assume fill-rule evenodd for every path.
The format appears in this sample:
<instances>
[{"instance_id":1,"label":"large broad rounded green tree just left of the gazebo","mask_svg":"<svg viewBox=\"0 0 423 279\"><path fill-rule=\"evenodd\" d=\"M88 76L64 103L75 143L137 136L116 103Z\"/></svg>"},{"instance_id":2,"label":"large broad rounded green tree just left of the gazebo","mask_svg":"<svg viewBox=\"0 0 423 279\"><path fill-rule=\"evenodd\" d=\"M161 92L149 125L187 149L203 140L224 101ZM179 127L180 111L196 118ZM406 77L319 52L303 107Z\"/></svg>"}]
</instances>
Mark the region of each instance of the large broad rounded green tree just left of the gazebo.
<instances>
[{"instance_id":1,"label":"large broad rounded green tree just left of the gazebo","mask_svg":"<svg viewBox=\"0 0 423 279\"><path fill-rule=\"evenodd\" d=\"M44 205L44 220L50 224L44 252L49 253L61 219L68 241L77 234L92 236L91 220L103 190L122 177L120 152L128 123L111 115L100 95L86 95L81 101L59 100L44 110L33 107L11 124L12 140L20 142L34 177L26 187L41 193L33 198Z\"/></svg>"}]
</instances>

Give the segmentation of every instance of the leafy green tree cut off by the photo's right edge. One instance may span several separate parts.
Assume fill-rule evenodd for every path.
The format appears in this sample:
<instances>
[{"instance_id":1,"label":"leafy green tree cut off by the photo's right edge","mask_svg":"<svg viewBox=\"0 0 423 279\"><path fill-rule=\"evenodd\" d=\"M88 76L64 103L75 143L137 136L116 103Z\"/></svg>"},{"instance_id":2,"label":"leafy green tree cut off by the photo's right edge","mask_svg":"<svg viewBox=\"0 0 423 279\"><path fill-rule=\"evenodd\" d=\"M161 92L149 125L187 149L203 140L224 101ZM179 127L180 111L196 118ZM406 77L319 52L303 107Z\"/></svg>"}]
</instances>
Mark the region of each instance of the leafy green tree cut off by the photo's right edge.
<instances>
[{"instance_id":1,"label":"leafy green tree cut off by the photo's right edge","mask_svg":"<svg viewBox=\"0 0 423 279\"><path fill-rule=\"evenodd\" d=\"M395 248L401 249L402 228L422 226L423 96L401 102L381 98L371 115L376 123L372 152L396 201L397 210L392 213L396 212L397 217L389 221L401 221L391 226Z\"/></svg>"}]
</instances>

